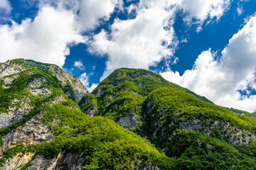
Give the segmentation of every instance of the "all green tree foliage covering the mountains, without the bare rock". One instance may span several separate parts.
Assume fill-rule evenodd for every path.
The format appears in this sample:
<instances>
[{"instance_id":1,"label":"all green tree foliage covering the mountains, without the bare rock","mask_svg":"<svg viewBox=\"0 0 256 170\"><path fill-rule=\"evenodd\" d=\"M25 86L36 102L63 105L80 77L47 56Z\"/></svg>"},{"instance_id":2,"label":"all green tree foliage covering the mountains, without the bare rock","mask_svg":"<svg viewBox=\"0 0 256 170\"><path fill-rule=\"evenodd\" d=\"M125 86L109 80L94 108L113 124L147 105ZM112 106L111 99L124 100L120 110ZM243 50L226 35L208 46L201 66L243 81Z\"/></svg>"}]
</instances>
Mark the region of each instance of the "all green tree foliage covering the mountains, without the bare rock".
<instances>
[{"instance_id":1,"label":"all green tree foliage covering the mountains, without the bare rock","mask_svg":"<svg viewBox=\"0 0 256 170\"><path fill-rule=\"evenodd\" d=\"M28 153L51 159L60 152L72 152L84 158L85 169L139 169L149 163L160 169L256 167L255 141L245 144L245 139L241 139L242 142L234 143L228 132L213 126L218 122L254 136L254 118L215 106L207 98L171 84L158 74L144 69L117 69L91 94L82 98L78 106L74 102L73 89L60 86L48 64L31 60L14 62L23 67L33 65L33 69L18 73L9 88L4 88L6 84L1 81L0 111L4 113L10 107L19 107L12 106L11 101L23 94L28 96L33 109L18 123L0 129L0 136L42 113L43 123L48 125L55 138L41 145L13 144L11 149L1 153L0 164ZM50 89L49 96L33 96L29 91L29 82L38 77L47 80L41 88ZM65 91L70 93L70 98L65 96ZM55 103L60 96L65 100ZM87 114L93 109L97 116L90 118ZM139 120L137 127L130 130L116 123L127 113L136 115ZM210 133L181 128L181 123L193 123L193 120L203 128L209 128ZM20 168L30 165L28 162Z\"/></svg>"}]
</instances>

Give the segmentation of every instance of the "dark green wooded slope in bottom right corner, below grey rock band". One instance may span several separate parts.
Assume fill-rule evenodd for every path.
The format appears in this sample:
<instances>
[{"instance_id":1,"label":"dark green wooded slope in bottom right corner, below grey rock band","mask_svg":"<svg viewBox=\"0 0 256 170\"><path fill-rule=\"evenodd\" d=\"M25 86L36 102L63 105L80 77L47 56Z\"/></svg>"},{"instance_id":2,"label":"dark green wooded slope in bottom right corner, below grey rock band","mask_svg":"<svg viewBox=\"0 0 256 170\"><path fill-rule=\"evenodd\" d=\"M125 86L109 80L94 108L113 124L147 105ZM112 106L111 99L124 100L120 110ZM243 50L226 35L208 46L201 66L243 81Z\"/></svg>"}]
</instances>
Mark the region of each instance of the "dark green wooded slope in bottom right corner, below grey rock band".
<instances>
[{"instance_id":1,"label":"dark green wooded slope in bottom right corner, below grey rock band","mask_svg":"<svg viewBox=\"0 0 256 170\"><path fill-rule=\"evenodd\" d=\"M255 169L256 157L242 152L245 145L228 145L222 140L191 130L176 130L169 142L175 155L174 169ZM247 153L255 152L255 143ZM178 154L177 154L178 153Z\"/></svg>"}]
</instances>

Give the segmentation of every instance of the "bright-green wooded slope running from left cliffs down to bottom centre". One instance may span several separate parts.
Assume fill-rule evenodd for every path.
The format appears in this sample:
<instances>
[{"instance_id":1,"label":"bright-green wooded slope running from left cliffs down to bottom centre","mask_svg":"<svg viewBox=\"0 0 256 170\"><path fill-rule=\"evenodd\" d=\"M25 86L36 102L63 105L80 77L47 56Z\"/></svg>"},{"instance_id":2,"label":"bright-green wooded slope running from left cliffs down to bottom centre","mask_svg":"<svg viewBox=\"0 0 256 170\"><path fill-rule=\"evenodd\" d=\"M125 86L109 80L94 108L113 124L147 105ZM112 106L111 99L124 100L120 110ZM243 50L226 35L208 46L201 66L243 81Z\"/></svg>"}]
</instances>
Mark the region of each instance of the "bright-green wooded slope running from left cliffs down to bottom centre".
<instances>
[{"instance_id":1,"label":"bright-green wooded slope running from left cliffs down to bottom centre","mask_svg":"<svg viewBox=\"0 0 256 170\"><path fill-rule=\"evenodd\" d=\"M73 101L52 107L43 105L40 108L43 121L56 137L38 146L18 144L3 153L4 159L28 152L53 158L65 151L82 154L88 165L94 159L99 160L100 169L132 169L132 166L145 166L146 162L169 169L172 159L161 154L149 141L119 127L113 120L88 118L79 109L70 108L75 105Z\"/></svg>"}]
</instances>

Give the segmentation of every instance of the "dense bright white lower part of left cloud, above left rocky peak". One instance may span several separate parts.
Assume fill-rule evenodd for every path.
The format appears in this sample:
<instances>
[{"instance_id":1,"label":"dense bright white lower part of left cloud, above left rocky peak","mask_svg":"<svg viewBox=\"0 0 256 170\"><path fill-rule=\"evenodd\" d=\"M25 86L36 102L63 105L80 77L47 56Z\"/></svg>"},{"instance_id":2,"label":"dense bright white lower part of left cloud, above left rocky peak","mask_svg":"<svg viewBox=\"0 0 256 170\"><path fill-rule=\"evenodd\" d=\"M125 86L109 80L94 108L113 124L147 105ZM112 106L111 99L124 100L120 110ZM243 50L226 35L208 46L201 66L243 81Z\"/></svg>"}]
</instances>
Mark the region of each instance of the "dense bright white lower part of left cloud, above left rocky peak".
<instances>
[{"instance_id":1,"label":"dense bright white lower part of left cloud, above left rocky peak","mask_svg":"<svg viewBox=\"0 0 256 170\"><path fill-rule=\"evenodd\" d=\"M74 28L74 16L50 6L43 7L38 16L21 24L0 26L0 62L14 58L49 62L63 66L69 45L84 42Z\"/></svg>"}]
</instances>

